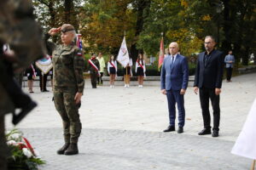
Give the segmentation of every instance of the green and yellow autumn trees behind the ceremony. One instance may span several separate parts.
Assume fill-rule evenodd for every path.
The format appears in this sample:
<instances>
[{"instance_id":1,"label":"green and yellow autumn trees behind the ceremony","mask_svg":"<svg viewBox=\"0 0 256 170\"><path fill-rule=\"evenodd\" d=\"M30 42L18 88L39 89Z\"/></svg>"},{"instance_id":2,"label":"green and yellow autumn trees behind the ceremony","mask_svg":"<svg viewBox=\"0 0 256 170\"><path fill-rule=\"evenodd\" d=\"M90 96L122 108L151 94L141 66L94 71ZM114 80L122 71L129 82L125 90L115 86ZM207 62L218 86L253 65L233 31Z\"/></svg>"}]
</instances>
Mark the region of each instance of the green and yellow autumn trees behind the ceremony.
<instances>
[{"instance_id":1,"label":"green and yellow autumn trees behind the ceremony","mask_svg":"<svg viewBox=\"0 0 256 170\"><path fill-rule=\"evenodd\" d=\"M86 53L116 55L125 35L132 59L138 52L157 56L161 33L165 48L178 42L185 56L201 52L207 35L243 65L256 52L254 0L34 0L34 6L45 30L73 24Z\"/></svg>"}]
</instances>

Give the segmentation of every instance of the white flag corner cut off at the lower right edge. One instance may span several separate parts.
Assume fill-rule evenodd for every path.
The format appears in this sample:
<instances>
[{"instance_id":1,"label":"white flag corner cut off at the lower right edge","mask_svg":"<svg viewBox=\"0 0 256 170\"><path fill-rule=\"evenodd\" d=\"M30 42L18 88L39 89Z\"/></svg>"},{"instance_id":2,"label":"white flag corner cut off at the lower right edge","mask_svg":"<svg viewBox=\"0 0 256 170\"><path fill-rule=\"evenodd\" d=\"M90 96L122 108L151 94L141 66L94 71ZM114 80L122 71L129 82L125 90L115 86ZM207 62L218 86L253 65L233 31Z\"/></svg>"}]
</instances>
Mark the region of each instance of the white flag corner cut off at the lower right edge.
<instances>
[{"instance_id":1,"label":"white flag corner cut off at the lower right edge","mask_svg":"<svg viewBox=\"0 0 256 170\"><path fill-rule=\"evenodd\" d=\"M256 160L256 99L231 153Z\"/></svg>"}]
</instances>

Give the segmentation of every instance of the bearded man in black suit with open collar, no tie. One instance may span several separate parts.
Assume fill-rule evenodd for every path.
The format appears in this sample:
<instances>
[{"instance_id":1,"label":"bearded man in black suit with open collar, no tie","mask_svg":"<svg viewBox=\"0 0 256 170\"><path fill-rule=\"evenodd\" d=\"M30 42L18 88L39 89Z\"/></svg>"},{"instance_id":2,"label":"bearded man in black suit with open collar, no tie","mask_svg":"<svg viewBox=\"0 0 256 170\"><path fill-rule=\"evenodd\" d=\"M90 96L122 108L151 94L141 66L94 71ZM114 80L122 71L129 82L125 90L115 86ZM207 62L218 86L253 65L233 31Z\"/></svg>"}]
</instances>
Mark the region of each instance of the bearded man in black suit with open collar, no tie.
<instances>
[{"instance_id":1,"label":"bearded man in black suit with open collar, no tie","mask_svg":"<svg viewBox=\"0 0 256 170\"><path fill-rule=\"evenodd\" d=\"M211 134L218 137L220 118L219 94L221 93L224 59L223 53L214 49L216 42L212 36L205 38L206 51L199 54L195 71L194 91L200 94L201 110L204 122L199 135ZM213 109L213 128L211 131L211 116L209 99Z\"/></svg>"}]
</instances>

